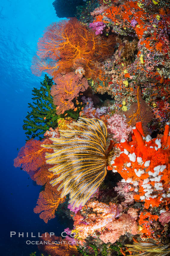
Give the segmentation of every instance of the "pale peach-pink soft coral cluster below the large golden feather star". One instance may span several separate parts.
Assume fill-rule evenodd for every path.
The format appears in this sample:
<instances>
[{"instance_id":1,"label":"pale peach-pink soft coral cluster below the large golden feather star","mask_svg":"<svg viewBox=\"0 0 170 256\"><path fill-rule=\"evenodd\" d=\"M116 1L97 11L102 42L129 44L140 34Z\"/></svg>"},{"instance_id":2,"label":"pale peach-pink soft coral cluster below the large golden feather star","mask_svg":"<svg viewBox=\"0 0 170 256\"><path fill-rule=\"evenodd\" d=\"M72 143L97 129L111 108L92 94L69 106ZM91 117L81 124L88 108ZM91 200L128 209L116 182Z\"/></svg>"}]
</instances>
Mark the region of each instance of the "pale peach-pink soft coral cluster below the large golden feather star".
<instances>
[{"instance_id":1,"label":"pale peach-pink soft coral cluster below the large golden feather star","mask_svg":"<svg viewBox=\"0 0 170 256\"><path fill-rule=\"evenodd\" d=\"M74 217L74 226L82 239L89 235L96 237L100 233L99 237L103 242L114 243L126 232L133 235L139 233L136 222L138 209L129 208L127 213L120 213L115 204L108 205L95 200L88 202L86 207L92 208L93 212L86 218L81 217L80 213Z\"/></svg>"}]
</instances>

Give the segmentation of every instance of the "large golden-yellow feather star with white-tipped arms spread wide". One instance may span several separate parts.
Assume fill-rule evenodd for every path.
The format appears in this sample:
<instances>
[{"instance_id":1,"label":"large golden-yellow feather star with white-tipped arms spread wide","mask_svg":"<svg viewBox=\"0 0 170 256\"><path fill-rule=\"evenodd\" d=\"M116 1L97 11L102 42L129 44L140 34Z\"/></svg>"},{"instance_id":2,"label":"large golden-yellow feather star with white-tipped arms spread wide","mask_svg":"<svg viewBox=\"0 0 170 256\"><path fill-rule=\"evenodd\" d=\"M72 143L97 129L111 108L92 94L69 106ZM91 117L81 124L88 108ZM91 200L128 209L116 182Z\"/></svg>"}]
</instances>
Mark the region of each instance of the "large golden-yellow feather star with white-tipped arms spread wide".
<instances>
[{"instance_id":1,"label":"large golden-yellow feather star with white-tipped arms spread wide","mask_svg":"<svg viewBox=\"0 0 170 256\"><path fill-rule=\"evenodd\" d=\"M47 163L58 176L51 183L61 183L61 196L70 193L70 204L84 205L106 176L106 164L110 163L114 151L106 155L107 129L103 121L80 117L68 125L70 130L60 130L59 139L51 139L54 153L46 154Z\"/></svg>"}]
</instances>

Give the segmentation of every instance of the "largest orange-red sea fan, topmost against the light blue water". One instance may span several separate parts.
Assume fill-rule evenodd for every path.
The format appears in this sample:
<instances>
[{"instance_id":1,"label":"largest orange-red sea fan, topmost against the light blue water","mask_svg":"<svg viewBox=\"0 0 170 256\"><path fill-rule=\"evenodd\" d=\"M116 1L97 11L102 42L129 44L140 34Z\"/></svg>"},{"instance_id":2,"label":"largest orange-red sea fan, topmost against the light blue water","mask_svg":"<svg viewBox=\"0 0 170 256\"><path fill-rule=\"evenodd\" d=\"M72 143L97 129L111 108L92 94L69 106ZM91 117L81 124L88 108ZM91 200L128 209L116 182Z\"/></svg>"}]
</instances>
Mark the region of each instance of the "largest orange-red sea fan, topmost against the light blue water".
<instances>
[{"instance_id":1,"label":"largest orange-red sea fan, topmost against the light blue water","mask_svg":"<svg viewBox=\"0 0 170 256\"><path fill-rule=\"evenodd\" d=\"M94 79L98 75L96 61L112 54L114 45L114 36L96 36L76 18L52 23L38 41L38 57L33 58L31 70L37 76L45 71L55 78L57 73L81 66L85 76Z\"/></svg>"}]
</instances>

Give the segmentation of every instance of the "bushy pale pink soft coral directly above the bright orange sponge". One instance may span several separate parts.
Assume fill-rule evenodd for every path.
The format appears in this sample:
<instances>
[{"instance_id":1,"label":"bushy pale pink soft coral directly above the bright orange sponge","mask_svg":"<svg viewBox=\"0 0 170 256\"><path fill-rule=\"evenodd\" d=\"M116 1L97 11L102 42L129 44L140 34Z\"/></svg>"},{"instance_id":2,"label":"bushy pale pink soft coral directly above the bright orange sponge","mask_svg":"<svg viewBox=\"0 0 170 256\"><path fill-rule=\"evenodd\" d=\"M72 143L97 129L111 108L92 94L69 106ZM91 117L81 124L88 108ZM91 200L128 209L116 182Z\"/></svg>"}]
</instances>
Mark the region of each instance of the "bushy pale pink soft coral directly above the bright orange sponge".
<instances>
[{"instance_id":1,"label":"bushy pale pink soft coral directly above the bright orange sponge","mask_svg":"<svg viewBox=\"0 0 170 256\"><path fill-rule=\"evenodd\" d=\"M118 142L120 142L121 139L128 139L133 132L132 127L127 125L126 119L121 117L121 115L114 114L107 122L108 133L113 134L113 138Z\"/></svg>"}]
</instances>

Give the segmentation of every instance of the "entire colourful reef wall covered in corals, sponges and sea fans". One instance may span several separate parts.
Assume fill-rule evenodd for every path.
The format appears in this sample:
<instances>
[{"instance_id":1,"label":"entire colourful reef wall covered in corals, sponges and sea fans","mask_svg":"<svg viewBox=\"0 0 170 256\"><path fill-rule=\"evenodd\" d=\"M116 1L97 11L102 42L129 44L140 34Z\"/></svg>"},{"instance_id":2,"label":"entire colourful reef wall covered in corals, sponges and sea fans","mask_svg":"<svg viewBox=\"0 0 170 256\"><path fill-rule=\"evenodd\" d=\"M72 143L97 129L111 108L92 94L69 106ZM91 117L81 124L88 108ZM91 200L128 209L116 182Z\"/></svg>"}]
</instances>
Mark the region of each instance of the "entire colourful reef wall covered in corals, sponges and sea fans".
<instances>
[{"instance_id":1,"label":"entire colourful reef wall covered in corals, sponges and sea fans","mask_svg":"<svg viewBox=\"0 0 170 256\"><path fill-rule=\"evenodd\" d=\"M51 76L54 112L14 160L42 186L34 212L73 219L39 251L170 255L170 3L84 2L38 41L31 70Z\"/></svg>"}]
</instances>

